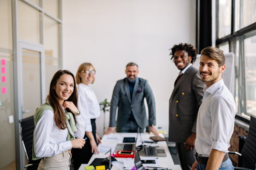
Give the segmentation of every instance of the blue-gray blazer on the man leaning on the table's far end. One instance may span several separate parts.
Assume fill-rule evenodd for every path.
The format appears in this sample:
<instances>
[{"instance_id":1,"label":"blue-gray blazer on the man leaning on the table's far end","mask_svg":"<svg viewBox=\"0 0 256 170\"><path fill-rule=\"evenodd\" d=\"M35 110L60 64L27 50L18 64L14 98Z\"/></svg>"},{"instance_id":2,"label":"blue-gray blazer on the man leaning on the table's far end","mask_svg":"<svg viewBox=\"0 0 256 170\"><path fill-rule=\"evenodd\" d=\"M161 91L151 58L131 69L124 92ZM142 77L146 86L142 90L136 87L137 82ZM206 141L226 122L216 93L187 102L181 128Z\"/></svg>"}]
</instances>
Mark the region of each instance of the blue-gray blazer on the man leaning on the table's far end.
<instances>
[{"instance_id":1,"label":"blue-gray blazer on the man leaning on the table's far end","mask_svg":"<svg viewBox=\"0 0 256 170\"><path fill-rule=\"evenodd\" d=\"M147 100L149 120L147 120L146 116L144 98ZM116 126L115 117L117 106L118 128L122 128L126 124L131 111L140 128L145 128L147 125L156 124L155 99L147 80L141 78L136 79L132 99L130 97L130 88L127 78L118 80L116 82L110 106L110 127Z\"/></svg>"}]
</instances>

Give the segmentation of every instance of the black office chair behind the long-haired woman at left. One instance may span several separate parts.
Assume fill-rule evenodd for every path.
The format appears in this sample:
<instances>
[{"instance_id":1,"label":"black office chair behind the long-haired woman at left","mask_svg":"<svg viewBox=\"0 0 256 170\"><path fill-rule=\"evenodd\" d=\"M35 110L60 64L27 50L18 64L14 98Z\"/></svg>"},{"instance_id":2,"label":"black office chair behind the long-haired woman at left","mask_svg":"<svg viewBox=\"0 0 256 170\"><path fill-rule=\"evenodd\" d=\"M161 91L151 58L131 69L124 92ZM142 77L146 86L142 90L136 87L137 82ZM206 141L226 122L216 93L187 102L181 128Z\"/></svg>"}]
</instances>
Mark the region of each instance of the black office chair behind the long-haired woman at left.
<instances>
[{"instance_id":1,"label":"black office chair behind the long-haired woman at left","mask_svg":"<svg viewBox=\"0 0 256 170\"><path fill-rule=\"evenodd\" d=\"M32 160L34 116L19 120L19 123L22 145L28 160L28 165L26 165L24 168L27 168L27 170L37 170L41 159Z\"/></svg>"}]
</instances>

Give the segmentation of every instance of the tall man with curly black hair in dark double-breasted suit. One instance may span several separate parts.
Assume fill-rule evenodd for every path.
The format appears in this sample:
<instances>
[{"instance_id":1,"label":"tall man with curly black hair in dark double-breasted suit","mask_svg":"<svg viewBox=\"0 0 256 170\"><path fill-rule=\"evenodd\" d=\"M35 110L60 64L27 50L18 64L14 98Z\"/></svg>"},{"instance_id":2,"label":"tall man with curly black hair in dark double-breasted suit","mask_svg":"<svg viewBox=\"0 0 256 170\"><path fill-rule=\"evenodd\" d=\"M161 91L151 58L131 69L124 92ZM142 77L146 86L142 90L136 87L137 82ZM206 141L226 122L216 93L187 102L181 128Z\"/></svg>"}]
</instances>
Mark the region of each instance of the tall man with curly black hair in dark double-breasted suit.
<instances>
[{"instance_id":1,"label":"tall man with curly black hair in dark double-breasted suit","mask_svg":"<svg viewBox=\"0 0 256 170\"><path fill-rule=\"evenodd\" d=\"M182 169L191 170L196 159L196 118L205 84L198 68L192 66L197 57L194 46L181 43L170 50L180 73L169 100L169 141L176 142Z\"/></svg>"}]
</instances>

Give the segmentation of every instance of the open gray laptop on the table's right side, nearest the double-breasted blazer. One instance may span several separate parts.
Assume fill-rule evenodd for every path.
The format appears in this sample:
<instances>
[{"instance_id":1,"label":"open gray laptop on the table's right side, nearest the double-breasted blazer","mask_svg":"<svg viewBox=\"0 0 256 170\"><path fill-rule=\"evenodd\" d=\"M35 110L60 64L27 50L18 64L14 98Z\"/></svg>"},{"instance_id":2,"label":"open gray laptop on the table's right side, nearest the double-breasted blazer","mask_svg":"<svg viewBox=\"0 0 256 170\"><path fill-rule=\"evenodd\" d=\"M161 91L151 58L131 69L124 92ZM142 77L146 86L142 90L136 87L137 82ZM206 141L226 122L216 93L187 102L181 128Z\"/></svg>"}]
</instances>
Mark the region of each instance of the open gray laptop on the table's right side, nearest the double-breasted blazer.
<instances>
[{"instance_id":1,"label":"open gray laptop on the table's right side, nearest the double-breasted blazer","mask_svg":"<svg viewBox=\"0 0 256 170\"><path fill-rule=\"evenodd\" d=\"M142 141L141 134L140 134L140 138L143 146L144 142ZM148 157L166 157L167 156L165 153L165 149L162 147L143 146L143 149L144 149L145 156L148 156Z\"/></svg>"}]
</instances>

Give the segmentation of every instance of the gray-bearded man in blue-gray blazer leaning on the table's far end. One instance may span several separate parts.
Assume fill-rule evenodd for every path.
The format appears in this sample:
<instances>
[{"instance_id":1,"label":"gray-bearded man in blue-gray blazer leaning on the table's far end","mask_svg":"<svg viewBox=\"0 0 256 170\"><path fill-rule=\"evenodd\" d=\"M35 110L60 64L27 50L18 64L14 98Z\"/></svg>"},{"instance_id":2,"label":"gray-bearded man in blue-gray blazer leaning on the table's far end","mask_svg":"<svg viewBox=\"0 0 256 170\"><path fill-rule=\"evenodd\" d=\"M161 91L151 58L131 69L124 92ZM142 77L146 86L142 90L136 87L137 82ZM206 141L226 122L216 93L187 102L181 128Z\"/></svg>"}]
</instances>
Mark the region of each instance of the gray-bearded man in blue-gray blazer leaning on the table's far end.
<instances>
[{"instance_id":1,"label":"gray-bearded man in blue-gray blazer leaning on the table's far end","mask_svg":"<svg viewBox=\"0 0 256 170\"><path fill-rule=\"evenodd\" d=\"M156 108L153 92L147 82L142 78L137 78L139 73L138 65L128 63L126 65L126 78L117 81L110 105L110 123L105 134L115 132L116 108L117 113L117 132L140 132L149 126L149 132L158 135L155 128ZM148 105L148 120L144 105L144 98Z\"/></svg>"}]
</instances>

